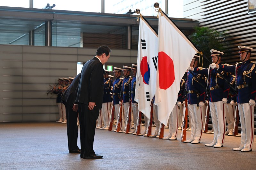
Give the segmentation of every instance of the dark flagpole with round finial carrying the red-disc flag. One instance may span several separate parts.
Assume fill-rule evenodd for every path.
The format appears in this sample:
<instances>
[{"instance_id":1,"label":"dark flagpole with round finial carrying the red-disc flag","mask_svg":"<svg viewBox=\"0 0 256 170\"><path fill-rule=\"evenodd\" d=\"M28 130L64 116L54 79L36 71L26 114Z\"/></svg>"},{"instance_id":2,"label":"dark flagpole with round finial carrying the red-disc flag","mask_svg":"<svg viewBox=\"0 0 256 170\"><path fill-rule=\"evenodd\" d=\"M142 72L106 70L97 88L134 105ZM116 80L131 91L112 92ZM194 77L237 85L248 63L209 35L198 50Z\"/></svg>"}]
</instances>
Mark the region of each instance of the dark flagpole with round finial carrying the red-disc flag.
<instances>
[{"instance_id":1,"label":"dark flagpole with round finial carrying the red-disc flag","mask_svg":"<svg viewBox=\"0 0 256 170\"><path fill-rule=\"evenodd\" d=\"M155 7L155 8L159 8L159 4L156 2L156 3L154 4L154 7ZM164 13L164 11L163 11L161 8L159 8L159 11L162 12L167 18L169 18L168 15L166 15L166 13ZM169 20L180 30L180 28L172 21L171 18L169 18ZM180 32L183 33L181 30L180 30ZM187 35L185 35L184 33L183 33L183 35L188 39L188 41L190 41L190 39L187 37ZM198 51L199 54L201 54L202 56L204 56L204 58L206 59L206 61L207 61L209 64L212 64L212 62L210 62L210 60L203 54L203 52L202 52L201 50L199 50L199 49L196 47L196 45L195 45L192 41L190 41L190 43L197 49L197 51ZM199 51L200 51L200 52L199 52ZM220 74L220 76L225 80L225 82L229 85L229 87L231 87L231 89L232 89L234 92L237 93L236 89L234 89L234 87L233 87L232 85L230 85L230 82L228 82L228 80L227 80L226 78L224 78L224 76L220 73L220 71L219 71L217 68L214 68L214 69Z\"/></svg>"}]
</instances>

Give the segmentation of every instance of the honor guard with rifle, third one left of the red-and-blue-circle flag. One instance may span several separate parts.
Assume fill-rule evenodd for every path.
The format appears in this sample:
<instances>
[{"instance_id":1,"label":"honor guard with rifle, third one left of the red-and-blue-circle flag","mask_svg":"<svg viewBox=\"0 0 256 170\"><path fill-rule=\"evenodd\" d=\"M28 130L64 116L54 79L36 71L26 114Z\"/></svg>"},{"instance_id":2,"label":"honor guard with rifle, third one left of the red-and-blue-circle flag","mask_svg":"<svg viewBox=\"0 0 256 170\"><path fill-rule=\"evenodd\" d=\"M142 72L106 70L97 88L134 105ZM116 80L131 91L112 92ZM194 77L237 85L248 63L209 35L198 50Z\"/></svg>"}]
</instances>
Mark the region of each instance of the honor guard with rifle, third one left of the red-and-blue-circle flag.
<instances>
[{"instance_id":1,"label":"honor guard with rifle, third one left of the red-and-blue-circle flag","mask_svg":"<svg viewBox=\"0 0 256 170\"><path fill-rule=\"evenodd\" d=\"M120 69L118 67L114 67L114 75L116 77L114 83L113 83L113 104L115 107L115 119L117 120L118 117L118 112L119 112L119 102L120 102L120 98L121 98L121 87L123 84L123 79L120 77L121 76L121 72L123 69Z\"/></svg>"}]
</instances>

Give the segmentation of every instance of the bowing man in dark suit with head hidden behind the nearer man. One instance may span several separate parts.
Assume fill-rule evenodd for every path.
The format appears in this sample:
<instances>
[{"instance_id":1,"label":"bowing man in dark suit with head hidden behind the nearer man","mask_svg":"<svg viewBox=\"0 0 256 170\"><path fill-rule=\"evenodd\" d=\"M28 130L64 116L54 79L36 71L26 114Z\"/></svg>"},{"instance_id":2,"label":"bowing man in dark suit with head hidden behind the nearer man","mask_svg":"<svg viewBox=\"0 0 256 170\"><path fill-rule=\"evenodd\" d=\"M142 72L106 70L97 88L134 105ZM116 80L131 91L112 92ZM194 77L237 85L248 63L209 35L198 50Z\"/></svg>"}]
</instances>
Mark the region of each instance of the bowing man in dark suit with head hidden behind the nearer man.
<instances>
[{"instance_id":1,"label":"bowing man in dark suit with head hidden behind the nearer man","mask_svg":"<svg viewBox=\"0 0 256 170\"><path fill-rule=\"evenodd\" d=\"M69 153L81 153L77 146L78 127L77 127L77 109L73 110L74 101L76 100L76 88L80 79L81 73L72 81L66 92L63 94L61 100L66 107L67 115L67 134L68 134L68 150Z\"/></svg>"}]
</instances>

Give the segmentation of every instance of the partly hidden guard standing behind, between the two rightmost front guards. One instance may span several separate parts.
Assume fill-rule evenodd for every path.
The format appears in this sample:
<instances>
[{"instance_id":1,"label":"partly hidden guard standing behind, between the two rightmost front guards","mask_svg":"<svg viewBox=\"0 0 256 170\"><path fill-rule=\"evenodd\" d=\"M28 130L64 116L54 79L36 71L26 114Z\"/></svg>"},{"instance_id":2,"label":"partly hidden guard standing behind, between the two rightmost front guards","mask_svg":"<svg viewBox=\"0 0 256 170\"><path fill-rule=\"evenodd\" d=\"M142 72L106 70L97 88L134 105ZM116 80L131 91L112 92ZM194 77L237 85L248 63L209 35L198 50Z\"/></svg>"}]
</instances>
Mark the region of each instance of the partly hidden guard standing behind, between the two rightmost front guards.
<instances>
[{"instance_id":1,"label":"partly hidden guard standing behind, between the two rightmost front guards","mask_svg":"<svg viewBox=\"0 0 256 170\"><path fill-rule=\"evenodd\" d=\"M232 85L234 89L236 88L235 81L236 81L236 76L231 75L230 85ZM225 135L228 135L228 136L233 136L233 128L235 123L235 101L236 101L236 92L230 89L228 102L226 104L226 119L227 119L228 127Z\"/></svg>"}]
</instances>

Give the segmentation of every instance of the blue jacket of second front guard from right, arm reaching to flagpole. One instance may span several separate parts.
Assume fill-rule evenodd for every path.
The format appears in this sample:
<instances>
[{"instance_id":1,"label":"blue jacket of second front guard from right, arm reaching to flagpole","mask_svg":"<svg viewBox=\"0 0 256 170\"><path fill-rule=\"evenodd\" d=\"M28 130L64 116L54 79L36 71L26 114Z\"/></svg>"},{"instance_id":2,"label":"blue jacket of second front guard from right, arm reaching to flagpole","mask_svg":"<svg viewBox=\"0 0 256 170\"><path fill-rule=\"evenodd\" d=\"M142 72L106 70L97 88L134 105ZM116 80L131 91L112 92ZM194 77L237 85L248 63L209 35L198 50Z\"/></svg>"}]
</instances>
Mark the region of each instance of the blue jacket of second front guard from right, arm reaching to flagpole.
<instances>
[{"instance_id":1,"label":"blue jacket of second front guard from right, arm reaching to flagpole","mask_svg":"<svg viewBox=\"0 0 256 170\"><path fill-rule=\"evenodd\" d=\"M219 65L221 65L221 63ZM194 72L208 76L209 88L219 85L219 88L210 91L210 102L217 102L221 101L223 98L229 98L229 85L225 82L225 80L222 77L220 77L219 73L215 69L212 69L211 67L203 70L199 70L199 68L194 68ZM221 74L224 76L226 80L230 80L229 72L222 71Z\"/></svg>"}]
</instances>

